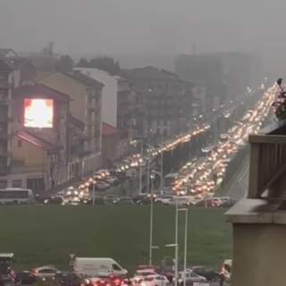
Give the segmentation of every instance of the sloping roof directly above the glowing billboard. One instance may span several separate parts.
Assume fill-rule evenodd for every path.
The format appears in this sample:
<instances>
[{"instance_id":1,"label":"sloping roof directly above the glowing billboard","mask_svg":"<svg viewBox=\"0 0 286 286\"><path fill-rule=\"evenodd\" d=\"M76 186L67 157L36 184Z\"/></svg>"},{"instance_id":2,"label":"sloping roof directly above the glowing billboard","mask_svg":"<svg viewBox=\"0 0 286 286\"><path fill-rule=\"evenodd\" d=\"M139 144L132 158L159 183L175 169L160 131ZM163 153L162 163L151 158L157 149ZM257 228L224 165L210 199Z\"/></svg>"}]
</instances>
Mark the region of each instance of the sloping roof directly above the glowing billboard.
<instances>
[{"instance_id":1,"label":"sloping roof directly above the glowing billboard","mask_svg":"<svg viewBox=\"0 0 286 286\"><path fill-rule=\"evenodd\" d=\"M26 85L21 86L19 88L14 88L12 94L13 97L34 95L38 95L39 98L51 97L63 102L71 101L71 97L69 97L68 95L53 88L46 87L43 84L36 84L34 86Z\"/></svg>"}]
</instances>

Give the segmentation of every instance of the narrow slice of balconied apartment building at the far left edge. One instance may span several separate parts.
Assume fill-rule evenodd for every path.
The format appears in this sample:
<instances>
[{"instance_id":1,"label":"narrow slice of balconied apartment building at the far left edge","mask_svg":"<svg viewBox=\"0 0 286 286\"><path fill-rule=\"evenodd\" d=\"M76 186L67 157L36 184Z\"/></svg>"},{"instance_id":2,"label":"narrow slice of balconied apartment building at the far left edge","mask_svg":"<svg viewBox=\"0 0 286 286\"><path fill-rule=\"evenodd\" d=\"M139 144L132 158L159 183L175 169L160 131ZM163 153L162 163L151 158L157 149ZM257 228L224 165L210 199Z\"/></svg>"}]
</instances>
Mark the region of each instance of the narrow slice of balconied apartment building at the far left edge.
<instances>
[{"instance_id":1,"label":"narrow slice of balconied apartment building at the far left edge","mask_svg":"<svg viewBox=\"0 0 286 286\"><path fill-rule=\"evenodd\" d=\"M0 188L6 181L10 172L11 149L9 139L11 136L11 87L13 70L0 60Z\"/></svg>"}]
</instances>

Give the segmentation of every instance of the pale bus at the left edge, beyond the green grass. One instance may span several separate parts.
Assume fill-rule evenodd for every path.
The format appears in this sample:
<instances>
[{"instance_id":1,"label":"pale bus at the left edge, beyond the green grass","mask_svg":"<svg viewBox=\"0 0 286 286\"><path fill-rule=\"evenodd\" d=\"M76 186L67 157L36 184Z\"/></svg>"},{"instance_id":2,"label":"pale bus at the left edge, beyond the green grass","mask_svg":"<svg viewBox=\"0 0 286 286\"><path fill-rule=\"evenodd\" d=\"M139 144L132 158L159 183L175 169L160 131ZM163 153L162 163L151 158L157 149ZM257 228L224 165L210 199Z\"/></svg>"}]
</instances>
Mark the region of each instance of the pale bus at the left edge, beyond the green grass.
<instances>
[{"instance_id":1,"label":"pale bus at the left edge, beyond the green grass","mask_svg":"<svg viewBox=\"0 0 286 286\"><path fill-rule=\"evenodd\" d=\"M0 204L31 204L35 198L31 189L0 189Z\"/></svg>"}]
</instances>

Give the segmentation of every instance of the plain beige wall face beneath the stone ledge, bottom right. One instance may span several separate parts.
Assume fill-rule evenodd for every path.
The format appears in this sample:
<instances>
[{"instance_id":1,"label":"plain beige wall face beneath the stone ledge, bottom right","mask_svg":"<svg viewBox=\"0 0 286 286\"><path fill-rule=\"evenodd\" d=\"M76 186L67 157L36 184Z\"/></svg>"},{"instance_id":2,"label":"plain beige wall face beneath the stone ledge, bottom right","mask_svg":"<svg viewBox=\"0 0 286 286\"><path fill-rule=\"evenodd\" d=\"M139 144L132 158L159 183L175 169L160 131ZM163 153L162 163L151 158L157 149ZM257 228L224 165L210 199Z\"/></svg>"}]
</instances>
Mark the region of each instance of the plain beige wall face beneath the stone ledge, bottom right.
<instances>
[{"instance_id":1,"label":"plain beige wall face beneath the stone ledge, bottom right","mask_svg":"<svg viewBox=\"0 0 286 286\"><path fill-rule=\"evenodd\" d=\"M285 237L286 225L234 223L231 286L285 285Z\"/></svg>"}]
</instances>

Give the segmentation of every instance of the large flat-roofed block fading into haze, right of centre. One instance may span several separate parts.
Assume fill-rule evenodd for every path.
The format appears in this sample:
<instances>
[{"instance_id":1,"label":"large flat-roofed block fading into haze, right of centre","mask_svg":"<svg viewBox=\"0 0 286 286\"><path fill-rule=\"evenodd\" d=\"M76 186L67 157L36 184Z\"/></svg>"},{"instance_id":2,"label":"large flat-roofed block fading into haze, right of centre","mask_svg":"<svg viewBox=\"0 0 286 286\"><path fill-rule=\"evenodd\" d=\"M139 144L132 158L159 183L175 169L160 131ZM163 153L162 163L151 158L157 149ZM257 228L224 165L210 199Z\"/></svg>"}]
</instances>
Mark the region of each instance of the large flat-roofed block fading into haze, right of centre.
<instances>
[{"instance_id":1,"label":"large flat-roofed block fading into haze, right of centre","mask_svg":"<svg viewBox=\"0 0 286 286\"><path fill-rule=\"evenodd\" d=\"M208 121L224 104L228 94L220 56L179 55L175 59L175 72L181 79L193 83L194 116L204 114Z\"/></svg>"}]
</instances>

